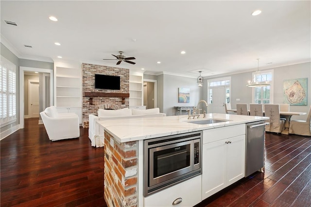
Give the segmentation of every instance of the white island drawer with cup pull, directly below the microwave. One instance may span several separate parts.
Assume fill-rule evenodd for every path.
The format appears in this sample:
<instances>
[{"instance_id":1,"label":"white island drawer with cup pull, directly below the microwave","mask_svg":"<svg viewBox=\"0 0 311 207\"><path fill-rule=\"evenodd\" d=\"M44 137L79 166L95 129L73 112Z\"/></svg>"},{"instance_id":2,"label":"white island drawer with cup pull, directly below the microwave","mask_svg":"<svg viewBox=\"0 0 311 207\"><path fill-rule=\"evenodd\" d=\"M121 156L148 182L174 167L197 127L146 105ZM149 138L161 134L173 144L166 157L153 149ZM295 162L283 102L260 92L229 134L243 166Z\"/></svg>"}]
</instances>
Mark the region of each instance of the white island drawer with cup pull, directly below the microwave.
<instances>
[{"instance_id":1,"label":"white island drawer with cup pull, directly below the microwave","mask_svg":"<svg viewBox=\"0 0 311 207\"><path fill-rule=\"evenodd\" d=\"M181 202L173 205L176 199ZM144 198L145 207L192 207L200 203L201 175Z\"/></svg>"}]
</instances>

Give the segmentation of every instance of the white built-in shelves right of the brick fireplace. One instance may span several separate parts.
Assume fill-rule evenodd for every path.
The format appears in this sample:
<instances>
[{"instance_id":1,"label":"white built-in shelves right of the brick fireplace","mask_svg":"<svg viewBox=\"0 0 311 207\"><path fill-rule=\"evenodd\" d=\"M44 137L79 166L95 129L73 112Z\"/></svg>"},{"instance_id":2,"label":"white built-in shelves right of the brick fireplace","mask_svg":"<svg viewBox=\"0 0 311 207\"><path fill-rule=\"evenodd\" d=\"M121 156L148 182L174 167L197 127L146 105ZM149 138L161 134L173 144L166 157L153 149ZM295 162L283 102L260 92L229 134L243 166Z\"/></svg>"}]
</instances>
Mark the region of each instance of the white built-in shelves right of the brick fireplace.
<instances>
[{"instance_id":1,"label":"white built-in shelves right of the brick fireplace","mask_svg":"<svg viewBox=\"0 0 311 207\"><path fill-rule=\"evenodd\" d=\"M130 72L130 106L143 105L143 73Z\"/></svg>"}]
</instances>

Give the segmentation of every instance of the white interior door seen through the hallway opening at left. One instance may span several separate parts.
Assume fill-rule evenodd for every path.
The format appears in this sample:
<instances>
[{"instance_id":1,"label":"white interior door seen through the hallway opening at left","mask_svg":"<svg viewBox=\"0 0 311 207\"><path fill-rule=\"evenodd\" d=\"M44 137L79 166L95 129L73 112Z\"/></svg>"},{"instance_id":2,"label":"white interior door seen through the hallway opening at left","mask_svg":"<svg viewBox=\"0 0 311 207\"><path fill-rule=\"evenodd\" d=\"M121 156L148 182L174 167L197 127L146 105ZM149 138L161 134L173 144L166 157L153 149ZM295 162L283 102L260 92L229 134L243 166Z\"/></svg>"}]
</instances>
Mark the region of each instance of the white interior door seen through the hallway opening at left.
<instances>
[{"instance_id":1,"label":"white interior door seen through the hallway opening at left","mask_svg":"<svg viewBox=\"0 0 311 207\"><path fill-rule=\"evenodd\" d=\"M31 118L39 117L39 82L29 81L29 116Z\"/></svg>"}]
</instances>

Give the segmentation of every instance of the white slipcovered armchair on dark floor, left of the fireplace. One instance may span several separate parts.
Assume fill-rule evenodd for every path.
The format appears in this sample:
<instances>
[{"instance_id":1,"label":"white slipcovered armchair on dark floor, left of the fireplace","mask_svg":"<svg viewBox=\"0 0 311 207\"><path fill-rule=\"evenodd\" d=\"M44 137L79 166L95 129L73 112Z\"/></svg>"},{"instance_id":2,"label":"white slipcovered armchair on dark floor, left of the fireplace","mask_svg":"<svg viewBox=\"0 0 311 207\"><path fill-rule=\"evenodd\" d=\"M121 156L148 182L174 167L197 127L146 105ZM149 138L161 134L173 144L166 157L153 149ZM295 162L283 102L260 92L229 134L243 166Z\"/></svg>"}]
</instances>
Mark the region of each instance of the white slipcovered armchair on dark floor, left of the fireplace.
<instances>
[{"instance_id":1,"label":"white slipcovered armchair on dark floor, left of the fireplace","mask_svg":"<svg viewBox=\"0 0 311 207\"><path fill-rule=\"evenodd\" d=\"M55 106L40 112L44 127L52 141L80 137L79 117L75 113L57 113Z\"/></svg>"}]
</instances>

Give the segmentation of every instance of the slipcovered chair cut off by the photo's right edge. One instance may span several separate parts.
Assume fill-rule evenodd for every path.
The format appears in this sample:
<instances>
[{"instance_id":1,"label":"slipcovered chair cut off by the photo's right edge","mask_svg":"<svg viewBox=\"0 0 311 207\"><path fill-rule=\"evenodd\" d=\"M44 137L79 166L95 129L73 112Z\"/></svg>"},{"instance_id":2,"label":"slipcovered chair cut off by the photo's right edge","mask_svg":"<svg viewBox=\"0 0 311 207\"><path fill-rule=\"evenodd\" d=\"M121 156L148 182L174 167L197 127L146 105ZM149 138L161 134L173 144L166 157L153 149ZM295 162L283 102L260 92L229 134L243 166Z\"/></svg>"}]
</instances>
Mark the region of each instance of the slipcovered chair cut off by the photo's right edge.
<instances>
[{"instance_id":1,"label":"slipcovered chair cut off by the photo's right edge","mask_svg":"<svg viewBox=\"0 0 311 207\"><path fill-rule=\"evenodd\" d=\"M307 121L291 120L290 121L290 134L311 136L311 106L308 112Z\"/></svg>"}]
</instances>

